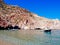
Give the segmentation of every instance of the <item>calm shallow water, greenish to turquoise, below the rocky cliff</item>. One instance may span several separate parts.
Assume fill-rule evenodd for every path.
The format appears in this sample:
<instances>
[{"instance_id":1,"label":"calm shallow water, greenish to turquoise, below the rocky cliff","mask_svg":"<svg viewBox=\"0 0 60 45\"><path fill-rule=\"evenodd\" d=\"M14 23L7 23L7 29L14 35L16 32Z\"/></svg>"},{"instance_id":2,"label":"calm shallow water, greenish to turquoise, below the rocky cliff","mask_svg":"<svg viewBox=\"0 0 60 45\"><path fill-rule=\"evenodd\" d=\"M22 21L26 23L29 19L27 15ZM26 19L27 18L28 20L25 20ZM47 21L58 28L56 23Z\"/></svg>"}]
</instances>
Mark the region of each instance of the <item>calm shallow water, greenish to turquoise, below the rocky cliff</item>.
<instances>
[{"instance_id":1,"label":"calm shallow water, greenish to turquoise, below the rocky cliff","mask_svg":"<svg viewBox=\"0 0 60 45\"><path fill-rule=\"evenodd\" d=\"M48 33L40 30L0 31L0 39L15 45L60 45L60 30Z\"/></svg>"}]
</instances>

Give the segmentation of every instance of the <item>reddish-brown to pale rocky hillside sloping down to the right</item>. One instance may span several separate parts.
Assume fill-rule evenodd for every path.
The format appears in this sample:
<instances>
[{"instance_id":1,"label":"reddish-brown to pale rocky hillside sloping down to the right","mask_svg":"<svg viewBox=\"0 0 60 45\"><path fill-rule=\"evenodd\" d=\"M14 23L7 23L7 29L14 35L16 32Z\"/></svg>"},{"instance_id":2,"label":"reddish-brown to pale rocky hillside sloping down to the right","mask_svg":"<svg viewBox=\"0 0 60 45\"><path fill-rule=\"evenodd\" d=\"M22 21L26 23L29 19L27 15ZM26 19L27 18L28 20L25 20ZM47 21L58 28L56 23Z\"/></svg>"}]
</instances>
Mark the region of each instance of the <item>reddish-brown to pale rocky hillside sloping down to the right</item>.
<instances>
[{"instance_id":1,"label":"reddish-brown to pale rocky hillside sloping down to the right","mask_svg":"<svg viewBox=\"0 0 60 45\"><path fill-rule=\"evenodd\" d=\"M60 29L59 20L40 17L18 6L0 0L0 27L18 26L21 29Z\"/></svg>"}]
</instances>

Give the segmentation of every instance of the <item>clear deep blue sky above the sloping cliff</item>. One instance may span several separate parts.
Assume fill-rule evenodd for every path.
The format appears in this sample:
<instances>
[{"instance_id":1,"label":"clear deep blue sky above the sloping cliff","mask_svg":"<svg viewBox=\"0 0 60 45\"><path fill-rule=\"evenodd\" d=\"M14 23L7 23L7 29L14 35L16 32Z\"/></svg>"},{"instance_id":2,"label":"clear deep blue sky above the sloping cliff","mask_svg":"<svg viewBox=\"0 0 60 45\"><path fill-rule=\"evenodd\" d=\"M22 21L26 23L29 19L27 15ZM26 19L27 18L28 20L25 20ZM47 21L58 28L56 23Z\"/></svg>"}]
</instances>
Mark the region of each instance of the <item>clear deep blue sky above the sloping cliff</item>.
<instances>
[{"instance_id":1,"label":"clear deep blue sky above the sloping cliff","mask_svg":"<svg viewBox=\"0 0 60 45\"><path fill-rule=\"evenodd\" d=\"M60 19L60 0L4 0L46 18Z\"/></svg>"}]
</instances>

